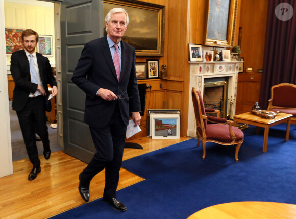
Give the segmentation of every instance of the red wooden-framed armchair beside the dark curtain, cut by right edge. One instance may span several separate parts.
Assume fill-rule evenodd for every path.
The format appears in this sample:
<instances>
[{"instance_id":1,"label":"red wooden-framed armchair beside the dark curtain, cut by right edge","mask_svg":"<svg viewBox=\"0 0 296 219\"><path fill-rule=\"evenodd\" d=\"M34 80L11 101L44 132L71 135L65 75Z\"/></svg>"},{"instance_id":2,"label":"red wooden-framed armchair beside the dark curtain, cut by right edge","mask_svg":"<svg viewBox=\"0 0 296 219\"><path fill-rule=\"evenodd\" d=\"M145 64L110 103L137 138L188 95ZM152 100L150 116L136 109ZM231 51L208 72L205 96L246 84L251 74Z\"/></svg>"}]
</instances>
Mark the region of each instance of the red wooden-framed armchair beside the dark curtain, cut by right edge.
<instances>
[{"instance_id":1,"label":"red wooden-framed armchair beside the dark curtain, cut by right edge","mask_svg":"<svg viewBox=\"0 0 296 219\"><path fill-rule=\"evenodd\" d=\"M272 86L272 98L268 102L267 110L292 114L291 123L296 124L296 85L282 83Z\"/></svg>"}]
</instances>

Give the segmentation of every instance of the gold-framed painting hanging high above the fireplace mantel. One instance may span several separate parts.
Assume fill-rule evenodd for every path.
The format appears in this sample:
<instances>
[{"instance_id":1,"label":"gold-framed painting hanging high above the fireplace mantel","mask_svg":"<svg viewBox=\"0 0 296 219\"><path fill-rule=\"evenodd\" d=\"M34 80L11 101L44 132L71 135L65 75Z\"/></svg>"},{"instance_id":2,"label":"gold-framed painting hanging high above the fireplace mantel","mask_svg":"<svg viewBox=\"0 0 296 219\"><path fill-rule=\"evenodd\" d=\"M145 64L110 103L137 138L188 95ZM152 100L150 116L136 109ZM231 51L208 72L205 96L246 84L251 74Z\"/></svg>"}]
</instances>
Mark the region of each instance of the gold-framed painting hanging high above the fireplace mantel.
<instances>
[{"instance_id":1,"label":"gold-framed painting hanging high above the fireplace mantel","mask_svg":"<svg viewBox=\"0 0 296 219\"><path fill-rule=\"evenodd\" d=\"M208 0L205 45L233 46L237 4L238 0Z\"/></svg>"}]
</instances>

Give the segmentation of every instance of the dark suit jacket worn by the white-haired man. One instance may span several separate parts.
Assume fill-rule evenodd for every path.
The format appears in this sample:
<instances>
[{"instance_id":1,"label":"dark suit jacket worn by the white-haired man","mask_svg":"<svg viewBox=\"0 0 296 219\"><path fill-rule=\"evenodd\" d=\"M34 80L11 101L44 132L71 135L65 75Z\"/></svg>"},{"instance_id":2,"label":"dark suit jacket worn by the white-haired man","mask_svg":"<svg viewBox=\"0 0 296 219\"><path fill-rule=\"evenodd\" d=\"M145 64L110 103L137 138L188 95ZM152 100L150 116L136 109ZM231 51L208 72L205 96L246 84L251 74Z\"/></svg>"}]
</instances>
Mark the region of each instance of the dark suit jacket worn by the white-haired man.
<instances>
[{"instance_id":1,"label":"dark suit jacket worn by the white-haired man","mask_svg":"<svg viewBox=\"0 0 296 219\"><path fill-rule=\"evenodd\" d=\"M121 40L121 74L117 80L107 36L85 44L72 81L87 95L85 100L84 122L95 128L107 125L119 101L122 120L129 123L129 112L140 111L140 98L135 72L135 48ZM96 95L98 89L111 90L115 94L123 92L130 99L105 101ZM129 109L130 102L130 109Z\"/></svg>"}]
</instances>

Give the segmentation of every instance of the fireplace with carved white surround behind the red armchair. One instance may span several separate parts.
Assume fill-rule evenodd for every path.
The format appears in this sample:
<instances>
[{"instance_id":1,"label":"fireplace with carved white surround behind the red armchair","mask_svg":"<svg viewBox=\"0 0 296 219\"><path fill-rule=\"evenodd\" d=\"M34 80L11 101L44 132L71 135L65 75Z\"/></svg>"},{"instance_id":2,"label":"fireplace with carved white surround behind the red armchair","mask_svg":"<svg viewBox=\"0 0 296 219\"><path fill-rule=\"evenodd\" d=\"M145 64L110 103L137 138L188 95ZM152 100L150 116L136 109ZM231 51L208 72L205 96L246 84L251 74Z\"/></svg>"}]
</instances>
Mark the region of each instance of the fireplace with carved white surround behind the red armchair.
<instances>
[{"instance_id":1,"label":"fireplace with carved white surround behind the red armchair","mask_svg":"<svg viewBox=\"0 0 296 219\"><path fill-rule=\"evenodd\" d=\"M196 137L197 128L191 97L192 87L195 87L203 96L205 107L220 110L220 116L224 118L233 116L230 114L235 112L239 63L236 61L189 62L188 136ZM230 104L228 104L229 100Z\"/></svg>"}]
</instances>

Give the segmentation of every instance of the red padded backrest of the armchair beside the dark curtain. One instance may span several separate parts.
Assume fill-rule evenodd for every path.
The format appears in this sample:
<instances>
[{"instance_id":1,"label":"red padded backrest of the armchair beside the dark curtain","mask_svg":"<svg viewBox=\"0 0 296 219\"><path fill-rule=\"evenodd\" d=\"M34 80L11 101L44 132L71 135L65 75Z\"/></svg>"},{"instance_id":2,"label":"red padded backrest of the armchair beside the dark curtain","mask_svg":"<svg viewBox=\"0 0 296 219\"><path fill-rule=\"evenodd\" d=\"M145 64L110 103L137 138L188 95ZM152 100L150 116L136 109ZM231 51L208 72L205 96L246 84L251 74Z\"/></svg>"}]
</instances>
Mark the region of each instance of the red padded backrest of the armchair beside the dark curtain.
<instances>
[{"instance_id":1,"label":"red padded backrest of the armchair beside the dark curtain","mask_svg":"<svg viewBox=\"0 0 296 219\"><path fill-rule=\"evenodd\" d=\"M291 86L280 86L273 89L273 105L280 107L296 107L296 89Z\"/></svg>"}]
</instances>

